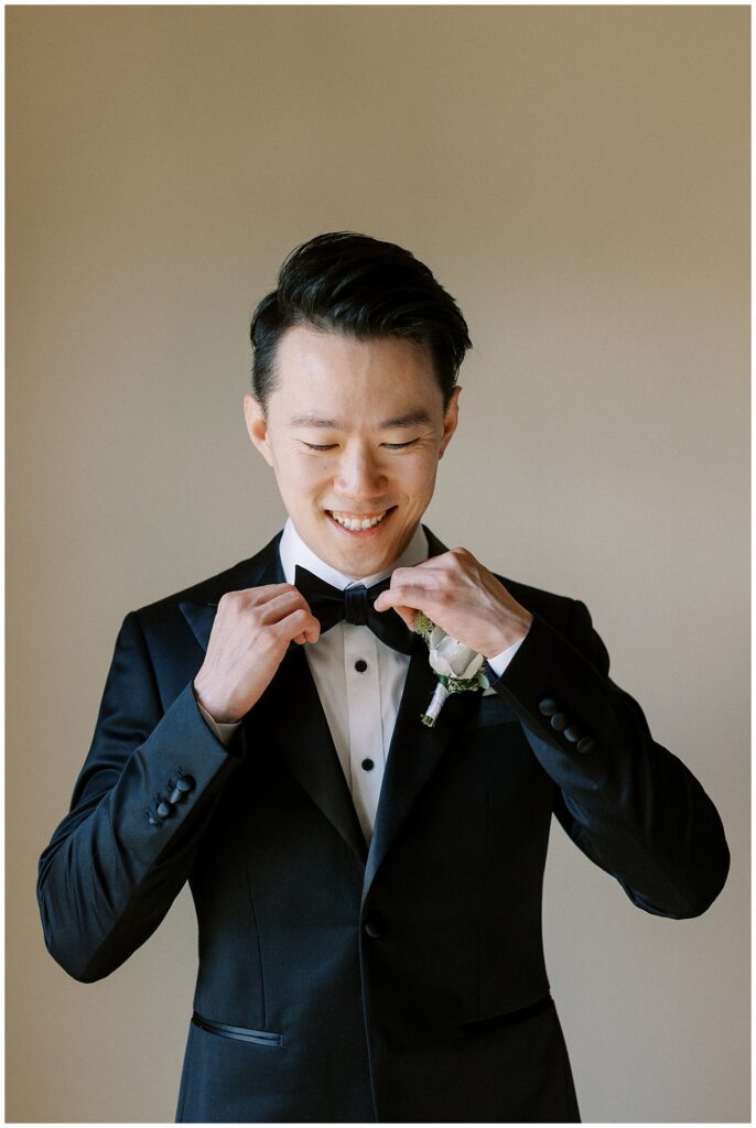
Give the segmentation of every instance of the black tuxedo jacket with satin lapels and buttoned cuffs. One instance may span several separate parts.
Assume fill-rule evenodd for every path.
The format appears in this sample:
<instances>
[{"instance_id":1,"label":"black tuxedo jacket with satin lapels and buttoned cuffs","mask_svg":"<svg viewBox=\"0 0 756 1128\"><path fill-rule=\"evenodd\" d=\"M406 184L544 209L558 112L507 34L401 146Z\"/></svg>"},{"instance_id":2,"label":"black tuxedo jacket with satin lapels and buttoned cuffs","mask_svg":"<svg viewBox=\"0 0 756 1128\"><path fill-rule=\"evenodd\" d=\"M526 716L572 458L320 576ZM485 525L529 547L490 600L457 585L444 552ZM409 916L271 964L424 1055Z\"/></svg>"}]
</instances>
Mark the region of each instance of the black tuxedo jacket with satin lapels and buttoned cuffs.
<instances>
[{"instance_id":1,"label":"black tuxedo jacket with satin lapels and buttoned cuffs","mask_svg":"<svg viewBox=\"0 0 756 1128\"><path fill-rule=\"evenodd\" d=\"M188 880L178 1120L578 1120L542 948L552 814L640 908L691 917L728 871L713 804L609 680L586 607L501 578L530 632L434 729L415 640L368 849L301 649L228 748L192 694L220 596L283 582L278 540L124 619L39 860L50 952L109 975Z\"/></svg>"}]
</instances>

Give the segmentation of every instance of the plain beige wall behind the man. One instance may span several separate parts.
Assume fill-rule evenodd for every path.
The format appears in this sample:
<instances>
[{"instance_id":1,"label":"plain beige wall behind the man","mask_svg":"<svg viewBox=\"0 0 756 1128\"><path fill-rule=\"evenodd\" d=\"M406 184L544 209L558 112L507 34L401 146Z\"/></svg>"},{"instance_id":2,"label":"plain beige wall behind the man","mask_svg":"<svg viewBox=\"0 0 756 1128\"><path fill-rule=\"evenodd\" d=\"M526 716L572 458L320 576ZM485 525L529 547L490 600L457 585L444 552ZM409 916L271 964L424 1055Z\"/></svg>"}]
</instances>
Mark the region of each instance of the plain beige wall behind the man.
<instances>
[{"instance_id":1,"label":"plain beige wall behind the man","mask_svg":"<svg viewBox=\"0 0 756 1128\"><path fill-rule=\"evenodd\" d=\"M555 826L586 1120L738 1121L748 1076L747 7L10 7L7 1116L172 1120L186 891L83 986L34 888L125 613L280 527L248 318L318 231L389 238L475 352L429 523L587 601L722 812L710 913Z\"/></svg>"}]
</instances>

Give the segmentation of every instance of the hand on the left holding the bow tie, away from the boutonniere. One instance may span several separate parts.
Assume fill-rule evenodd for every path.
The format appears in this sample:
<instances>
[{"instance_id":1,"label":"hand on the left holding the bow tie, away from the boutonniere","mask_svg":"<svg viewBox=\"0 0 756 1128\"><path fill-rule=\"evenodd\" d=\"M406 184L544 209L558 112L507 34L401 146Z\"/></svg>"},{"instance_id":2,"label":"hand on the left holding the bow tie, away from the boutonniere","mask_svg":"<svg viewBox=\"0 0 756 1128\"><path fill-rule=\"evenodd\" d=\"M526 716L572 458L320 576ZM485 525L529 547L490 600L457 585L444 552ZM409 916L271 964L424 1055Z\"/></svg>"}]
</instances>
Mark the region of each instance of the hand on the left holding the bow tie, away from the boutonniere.
<instances>
[{"instance_id":1,"label":"hand on the left holding the bow tie, away from the boutonniere","mask_svg":"<svg viewBox=\"0 0 756 1128\"><path fill-rule=\"evenodd\" d=\"M273 680L289 643L317 642L320 624L296 588L228 591L218 602L194 693L219 724L240 721Z\"/></svg>"}]
</instances>

